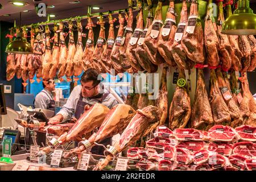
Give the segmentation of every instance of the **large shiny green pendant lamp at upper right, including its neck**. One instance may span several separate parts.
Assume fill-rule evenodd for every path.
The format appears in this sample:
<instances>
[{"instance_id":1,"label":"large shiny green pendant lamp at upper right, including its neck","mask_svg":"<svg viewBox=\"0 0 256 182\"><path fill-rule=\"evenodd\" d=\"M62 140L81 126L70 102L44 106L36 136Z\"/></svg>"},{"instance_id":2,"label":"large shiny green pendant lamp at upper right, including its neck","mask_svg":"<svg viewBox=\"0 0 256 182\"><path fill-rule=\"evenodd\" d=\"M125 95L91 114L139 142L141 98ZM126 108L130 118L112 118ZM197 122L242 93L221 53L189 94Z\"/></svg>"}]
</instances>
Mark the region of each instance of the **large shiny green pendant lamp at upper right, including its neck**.
<instances>
[{"instance_id":1,"label":"large shiny green pendant lamp at upper right, including its neck","mask_svg":"<svg viewBox=\"0 0 256 182\"><path fill-rule=\"evenodd\" d=\"M249 3L249 0L238 0L238 8L222 25L222 34L256 35L256 15Z\"/></svg>"}]
</instances>

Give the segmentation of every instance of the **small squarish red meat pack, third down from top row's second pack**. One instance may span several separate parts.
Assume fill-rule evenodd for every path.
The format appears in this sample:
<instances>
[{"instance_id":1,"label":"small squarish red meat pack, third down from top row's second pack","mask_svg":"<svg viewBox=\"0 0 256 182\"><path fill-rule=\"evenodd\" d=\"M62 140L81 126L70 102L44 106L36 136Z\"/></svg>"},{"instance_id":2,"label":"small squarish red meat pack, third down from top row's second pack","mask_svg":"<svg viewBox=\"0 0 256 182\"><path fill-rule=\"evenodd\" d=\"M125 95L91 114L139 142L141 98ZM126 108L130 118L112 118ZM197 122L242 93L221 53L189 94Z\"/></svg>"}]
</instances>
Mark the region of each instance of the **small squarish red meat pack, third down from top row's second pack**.
<instances>
[{"instance_id":1,"label":"small squarish red meat pack, third down from top row's second pack","mask_svg":"<svg viewBox=\"0 0 256 182\"><path fill-rule=\"evenodd\" d=\"M191 152L185 148L176 148L176 162L178 164L190 164L193 160Z\"/></svg>"}]
</instances>

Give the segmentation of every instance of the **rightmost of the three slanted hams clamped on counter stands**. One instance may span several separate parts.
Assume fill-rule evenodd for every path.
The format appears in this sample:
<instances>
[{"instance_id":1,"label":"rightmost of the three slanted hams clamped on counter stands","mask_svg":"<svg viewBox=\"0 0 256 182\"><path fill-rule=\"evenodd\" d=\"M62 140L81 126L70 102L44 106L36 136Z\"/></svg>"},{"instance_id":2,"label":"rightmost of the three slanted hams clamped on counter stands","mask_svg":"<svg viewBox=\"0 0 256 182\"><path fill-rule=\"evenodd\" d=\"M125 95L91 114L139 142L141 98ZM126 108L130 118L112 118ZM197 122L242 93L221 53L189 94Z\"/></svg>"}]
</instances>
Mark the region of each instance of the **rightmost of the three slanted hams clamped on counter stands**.
<instances>
[{"instance_id":1,"label":"rightmost of the three slanted hams clamped on counter stands","mask_svg":"<svg viewBox=\"0 0 256 182\"><path fill-rule=\"evenodd\" d=\"M119 152L125 150L127 146L141 138L148 128L159 121L159 112L158 107L155 106L147 106L142 110L137 110L137 114L134 115L129 125L123 131L120 140L113 147L110 147L106 158L99 162L94 170L104 169L113 159L113 156L116 156Z\"/></svg>"}]
</instances>

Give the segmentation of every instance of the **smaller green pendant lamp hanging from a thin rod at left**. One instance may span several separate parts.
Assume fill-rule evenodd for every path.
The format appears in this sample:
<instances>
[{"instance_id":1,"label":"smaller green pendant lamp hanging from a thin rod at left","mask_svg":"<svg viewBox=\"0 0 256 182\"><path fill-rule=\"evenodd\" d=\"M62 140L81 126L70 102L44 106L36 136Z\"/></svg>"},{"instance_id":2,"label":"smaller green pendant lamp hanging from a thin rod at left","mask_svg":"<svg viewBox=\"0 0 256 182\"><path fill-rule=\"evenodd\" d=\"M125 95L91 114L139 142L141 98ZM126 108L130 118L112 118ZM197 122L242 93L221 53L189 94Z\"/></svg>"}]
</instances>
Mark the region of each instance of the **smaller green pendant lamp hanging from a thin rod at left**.
<instances>
[{"instance_id":1,"label":"smaller green pendant lamp hanging from a thin rod at left","mask_svg":"<svg viewBox=\"0 0 256 182\"><path fill-rule=\"evenodd\" d=\"M21 26L21 12L20 12L20 26ZM30 54L33 53L33 48L26 39L22 39L21 32L19 31L13 42L10 42L5 49L7 53L20 53Z\"/></svg>"}]
</instances>

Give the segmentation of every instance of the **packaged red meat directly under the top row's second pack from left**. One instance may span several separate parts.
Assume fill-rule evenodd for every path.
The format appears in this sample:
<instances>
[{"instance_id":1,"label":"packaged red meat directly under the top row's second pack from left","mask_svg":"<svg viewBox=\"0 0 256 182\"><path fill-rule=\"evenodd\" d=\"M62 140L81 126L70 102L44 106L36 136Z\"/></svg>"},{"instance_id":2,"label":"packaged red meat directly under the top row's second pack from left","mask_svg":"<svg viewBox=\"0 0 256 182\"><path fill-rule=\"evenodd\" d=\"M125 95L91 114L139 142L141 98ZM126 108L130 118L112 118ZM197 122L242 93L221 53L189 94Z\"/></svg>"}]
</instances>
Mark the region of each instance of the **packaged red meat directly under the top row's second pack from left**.
<instances>
[{"instance_id":1,"label":"packaged red meat directly under the top row's second pack from left","mask_svg":"<svg viewBox=\"0 0 256 182\"><path fill-rule=\"evenodd\" d=\"M190 150L191 152L203 150L205 146L205 143L203 141L183 141L177 144L176 148L185 148L187 150Z\"/></svg>"}]
</instances>

